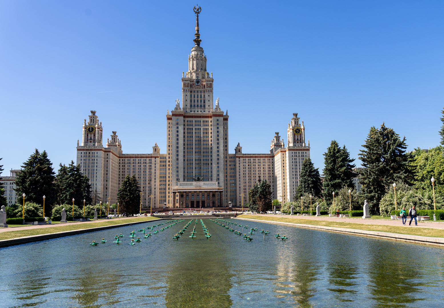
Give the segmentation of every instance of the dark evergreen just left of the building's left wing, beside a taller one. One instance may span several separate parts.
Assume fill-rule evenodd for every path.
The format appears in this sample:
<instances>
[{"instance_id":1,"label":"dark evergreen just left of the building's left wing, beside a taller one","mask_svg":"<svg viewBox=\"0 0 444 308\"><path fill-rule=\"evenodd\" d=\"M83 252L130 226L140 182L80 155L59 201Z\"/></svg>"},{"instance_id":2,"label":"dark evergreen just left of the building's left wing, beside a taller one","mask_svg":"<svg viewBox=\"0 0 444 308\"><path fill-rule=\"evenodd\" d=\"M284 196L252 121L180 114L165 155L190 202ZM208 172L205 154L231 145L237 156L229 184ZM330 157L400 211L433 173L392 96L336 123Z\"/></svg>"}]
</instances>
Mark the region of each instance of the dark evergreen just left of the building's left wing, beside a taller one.
<instances>
[{"instance_id":1,"label":"dark evergreen just left of the building's left wing, beside a taller one","mask_svg":"<svg viewBox=\"0 0 444 308\"><path fill-rule=\"evenodd\" d=\"M74 204L83 208L83 199L85 204L91 203L91 185L86 175L80 172L80 166L76 166L74 161L68 166L59 165L59 171L56 176L57 203Z\"/></svg>"}]
</instances>

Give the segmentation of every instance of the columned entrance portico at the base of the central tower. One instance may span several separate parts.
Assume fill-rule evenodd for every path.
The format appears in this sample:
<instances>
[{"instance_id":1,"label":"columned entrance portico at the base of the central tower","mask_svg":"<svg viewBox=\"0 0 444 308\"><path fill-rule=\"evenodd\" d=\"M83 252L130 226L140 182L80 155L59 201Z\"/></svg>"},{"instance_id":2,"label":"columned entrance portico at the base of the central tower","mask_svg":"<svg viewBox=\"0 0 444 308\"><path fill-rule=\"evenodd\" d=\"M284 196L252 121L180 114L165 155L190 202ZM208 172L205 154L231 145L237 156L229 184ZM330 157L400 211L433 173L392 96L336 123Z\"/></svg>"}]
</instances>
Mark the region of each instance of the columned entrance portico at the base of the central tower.
<instances>
[{"instance_id":1,"label":"columned entrance portico at the base of the central tower","mask_svg":"<svg viewBox=\"0 0 444 308\"><path fill-rule=\"evenodd\" d=\"M178 182L173 188L173 207L221 207L222 193L218 182Z\"/></svg>"}]
</instances>

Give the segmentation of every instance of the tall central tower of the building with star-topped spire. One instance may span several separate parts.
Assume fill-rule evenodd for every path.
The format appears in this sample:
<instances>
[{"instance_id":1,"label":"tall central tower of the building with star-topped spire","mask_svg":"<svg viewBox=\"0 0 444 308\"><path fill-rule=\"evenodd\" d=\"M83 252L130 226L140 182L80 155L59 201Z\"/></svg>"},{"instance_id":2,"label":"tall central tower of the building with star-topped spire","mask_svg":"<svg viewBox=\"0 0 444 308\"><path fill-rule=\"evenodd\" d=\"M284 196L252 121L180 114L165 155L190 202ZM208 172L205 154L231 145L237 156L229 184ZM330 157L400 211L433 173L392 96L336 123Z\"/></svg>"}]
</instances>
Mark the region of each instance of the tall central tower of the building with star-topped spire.
<instances>
[{"instance_id":1,"label":"tall central tower of the building with star-topped spire","mask_svg":"<svg viewBox=\"0 0 444 308\"><path fill-rule=\"evenodd\" d=\"M166 114L166 183L172 186L166 204L174 207L228 206L228 113L220 109L219 99L213 105L213 74L207 72L200 46L201 11L194 7L194 47L188 71L182 72L182 108L176 100L174 110Z\"/></svg>"}]
</instances>

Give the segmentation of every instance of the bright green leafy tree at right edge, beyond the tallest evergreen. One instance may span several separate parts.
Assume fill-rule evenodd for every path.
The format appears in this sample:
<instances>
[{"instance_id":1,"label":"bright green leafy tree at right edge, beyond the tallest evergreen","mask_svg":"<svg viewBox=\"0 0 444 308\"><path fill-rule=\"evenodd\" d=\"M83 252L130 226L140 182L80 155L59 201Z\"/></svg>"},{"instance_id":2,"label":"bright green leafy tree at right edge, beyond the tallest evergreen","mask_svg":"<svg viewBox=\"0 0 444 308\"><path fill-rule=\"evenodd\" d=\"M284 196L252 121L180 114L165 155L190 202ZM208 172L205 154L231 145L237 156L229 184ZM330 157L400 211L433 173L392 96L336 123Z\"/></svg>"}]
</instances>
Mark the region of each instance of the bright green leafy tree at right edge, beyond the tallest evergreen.
<instances>
[{"instance_id":1,"label":"bright green leafy tree at right edge, beyond the tallest evergreen","mask_svg":"<svg viewBox=\"0 0 444 308\"><path fill-rule=\"evenodd\" d=\"M435 192L444 195L444 147L437 146L428 151L416 148L415 160L412 162L415 168L415 187L425 191L432 191L432 182L435 179Z\"/></svg>"}]
</instances>

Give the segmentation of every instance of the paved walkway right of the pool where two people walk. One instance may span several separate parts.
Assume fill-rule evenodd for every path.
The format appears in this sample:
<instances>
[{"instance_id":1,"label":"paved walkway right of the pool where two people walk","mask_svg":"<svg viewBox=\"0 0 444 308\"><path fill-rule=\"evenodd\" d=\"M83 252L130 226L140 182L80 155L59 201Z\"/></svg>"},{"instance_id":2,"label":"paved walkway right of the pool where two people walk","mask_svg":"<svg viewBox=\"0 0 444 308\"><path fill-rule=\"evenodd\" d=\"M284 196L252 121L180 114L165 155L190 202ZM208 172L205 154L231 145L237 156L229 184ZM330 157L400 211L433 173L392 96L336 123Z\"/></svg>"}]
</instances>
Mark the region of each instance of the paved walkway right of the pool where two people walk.
<instances>
[{"instance_id":1,"label":"paved walkway right of the pool where two people walk","mask_svg":"<svg viewBox=\"0 0 444 308\"><path fill-rule=\"evenodd\" d=\"M249 216L249 215L246 215ZM253 216L253 215L252 215ZM274 217L280 217L280 218L298 218L298 219L305 219L307 220L307 224L309 224L310 220L326 220L326 221L333 221L333 222L350 222L350 223L362 223L367 225L387 225L387 226L402 226L401 220L385 220L385 219L362 219L362 218L336 218L336 217L316 217L316 216L288 216L288 215L273 215L273 214L256 214L254 216L274 216ZM417 228L417 227L423 227L423 228L434 228L434 229L444 229L444 223L442 222L433 222L430 220L426 221L418 221L418 226L415 226L415 220L412 221L412 225L409 226L408 222L406 223L406 228Z\"/></svg>"}]
</instances>

